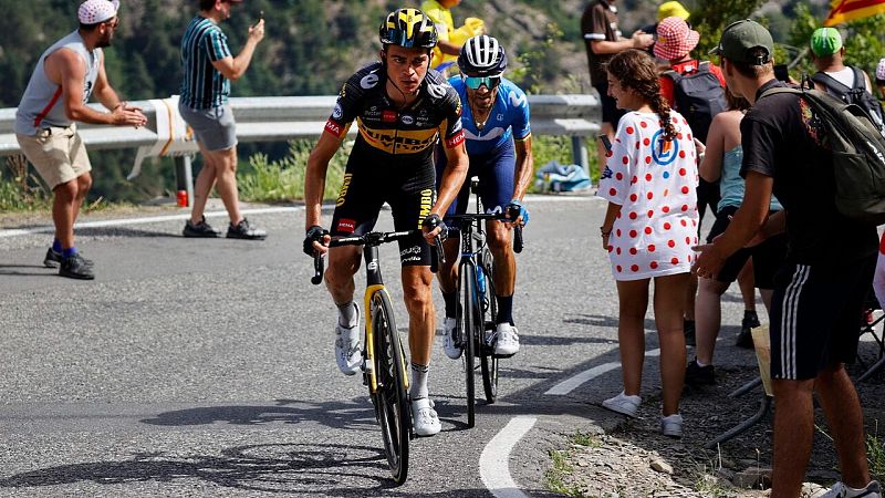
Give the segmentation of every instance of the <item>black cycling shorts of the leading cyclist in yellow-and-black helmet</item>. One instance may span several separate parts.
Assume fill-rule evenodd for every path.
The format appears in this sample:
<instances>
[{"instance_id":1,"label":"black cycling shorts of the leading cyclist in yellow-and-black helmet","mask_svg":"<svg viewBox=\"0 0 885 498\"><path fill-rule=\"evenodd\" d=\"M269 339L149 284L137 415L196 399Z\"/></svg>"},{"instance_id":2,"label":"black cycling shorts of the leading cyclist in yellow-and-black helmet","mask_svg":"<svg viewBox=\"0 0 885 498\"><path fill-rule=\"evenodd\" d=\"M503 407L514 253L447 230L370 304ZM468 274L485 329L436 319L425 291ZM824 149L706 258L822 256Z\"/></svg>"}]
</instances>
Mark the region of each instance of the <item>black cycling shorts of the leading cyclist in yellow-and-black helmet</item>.
<instances>
[{"instance_id":1,"label":"black cycling shorts of the leading cyclist in yellow-and-black helmet","mask_svg":"<svg viewBox=\"0 0 885 498\"><path fill-rule=\"evenodd\" d=\"M433 162L398 165L377 158L363 160L363 157L351 154L330 234L351 236L372 231L384 203L391 206L395 230L420 229L436 203ZM423 237L400 240L399 261L404 267L429 266L430 246Z\"/></svg>"}]
</instances>

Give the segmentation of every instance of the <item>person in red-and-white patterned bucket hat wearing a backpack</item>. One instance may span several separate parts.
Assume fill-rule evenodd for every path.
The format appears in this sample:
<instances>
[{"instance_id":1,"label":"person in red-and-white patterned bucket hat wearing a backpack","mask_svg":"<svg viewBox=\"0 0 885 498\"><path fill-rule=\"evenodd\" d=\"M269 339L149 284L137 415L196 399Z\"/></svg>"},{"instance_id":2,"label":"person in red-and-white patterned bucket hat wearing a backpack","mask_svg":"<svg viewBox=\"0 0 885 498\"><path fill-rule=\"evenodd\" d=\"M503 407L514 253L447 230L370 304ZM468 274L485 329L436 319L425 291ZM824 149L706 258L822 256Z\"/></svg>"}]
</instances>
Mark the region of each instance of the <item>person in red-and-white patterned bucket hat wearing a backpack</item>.
<instances>
[{"instance_id":1,"label":"person in red-and-white patterned bucket hat wearing a backpack","mask_svg":"<svg viewBox=\"0 0 885 498\"><path fill-rule=\"evenodd\" d=\"M657 25L655 56L669 62L670 70L660 76L660 94L671 108L678 111L691 127L691 134L707 142L712 117L728 107L725 96L726 79L722 71L709 61L691 58L700 34L688 27L680 17L665 18ZM698 180L698 234L707 206L716 215L719 204L719 186L702 178ZM685 307L686 344L695 345L695 297L698 281L689 280Z\"/></svg>"}]
</instances>

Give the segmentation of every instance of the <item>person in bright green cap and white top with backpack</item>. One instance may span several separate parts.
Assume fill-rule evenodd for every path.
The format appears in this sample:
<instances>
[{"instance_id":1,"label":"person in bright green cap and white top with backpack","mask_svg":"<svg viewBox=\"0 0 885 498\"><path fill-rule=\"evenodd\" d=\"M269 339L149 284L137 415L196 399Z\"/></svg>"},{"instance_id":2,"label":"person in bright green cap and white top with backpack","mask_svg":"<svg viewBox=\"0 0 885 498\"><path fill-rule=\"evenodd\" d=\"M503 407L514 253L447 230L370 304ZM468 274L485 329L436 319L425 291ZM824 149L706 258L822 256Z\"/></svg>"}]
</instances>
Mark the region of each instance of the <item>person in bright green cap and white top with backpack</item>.
<instances>
[{"instance_id":1,"label":"person in bright green cap and white top with backpack","mask_svg":"<svg viewBox=\"0 0 885 498\"><path fill-rule=\"evenodd\" d=\"M835 28L818 28L811 34L812 61L818 72L811 76L814 87L842 98L847 104L857 104L879 131L883 127L882 104L873 96L870 76L860 68L845 65L845 46Z\"/></svg>"}]
</instances>

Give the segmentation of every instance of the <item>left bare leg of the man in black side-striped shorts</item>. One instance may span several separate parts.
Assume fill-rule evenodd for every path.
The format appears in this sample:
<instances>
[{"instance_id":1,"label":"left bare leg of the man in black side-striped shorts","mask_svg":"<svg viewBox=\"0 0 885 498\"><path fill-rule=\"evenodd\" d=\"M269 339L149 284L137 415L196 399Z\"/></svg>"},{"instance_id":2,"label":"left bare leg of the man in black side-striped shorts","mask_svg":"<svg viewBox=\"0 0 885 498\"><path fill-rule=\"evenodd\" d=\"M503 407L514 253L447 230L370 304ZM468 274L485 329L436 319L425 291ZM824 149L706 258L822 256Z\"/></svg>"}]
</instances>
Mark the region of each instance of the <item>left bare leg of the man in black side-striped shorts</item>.
<instances>
[{"instance_id":1,"label":"left bare leg of the man in black side-striped shorts","mask_svg":"<svg viewBox=\"0 0 885 498\"><path fill-rule=\"evenodd\" d=\"M774 378L774 458L771 498L799 498L814 437L814 380Z\"/></svg>"}]
</instances>

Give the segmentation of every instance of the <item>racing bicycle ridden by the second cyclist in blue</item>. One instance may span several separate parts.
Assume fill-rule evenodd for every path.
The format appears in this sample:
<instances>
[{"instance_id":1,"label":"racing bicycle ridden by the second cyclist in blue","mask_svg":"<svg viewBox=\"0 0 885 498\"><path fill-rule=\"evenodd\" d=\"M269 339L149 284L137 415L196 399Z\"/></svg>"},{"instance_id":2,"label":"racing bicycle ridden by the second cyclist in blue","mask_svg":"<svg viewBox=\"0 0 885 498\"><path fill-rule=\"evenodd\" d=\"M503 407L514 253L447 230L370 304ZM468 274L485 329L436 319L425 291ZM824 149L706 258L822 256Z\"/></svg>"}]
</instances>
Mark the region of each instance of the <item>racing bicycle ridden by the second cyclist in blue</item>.
<instances>
[{"instance_id":1,"label":"racing bicycle ridden by the second cyclist in blue","mask_svg":"<svg viewBox=\"0 0 885 498\"><path fill-rule=\"evenodd\" d=\"M452 215L446 218L461 221L461 261L458 264L458 324L455 344L464 351L465 384L467 387L467 426L476 424L477 367L482 373L482 388L489 404L498 398L498 360L494 354L494 329L498 302L494 299L494 260L486 243L483 220L510 221L519 217L512 212L482 212L478 193L479 181L472 180L470 191L476 195L477 212ZM522 227L513 229L513 252L522 252ZM479 357L479 365L477 365Z\"/></svg>"}]
</instances>

